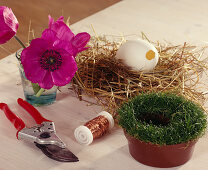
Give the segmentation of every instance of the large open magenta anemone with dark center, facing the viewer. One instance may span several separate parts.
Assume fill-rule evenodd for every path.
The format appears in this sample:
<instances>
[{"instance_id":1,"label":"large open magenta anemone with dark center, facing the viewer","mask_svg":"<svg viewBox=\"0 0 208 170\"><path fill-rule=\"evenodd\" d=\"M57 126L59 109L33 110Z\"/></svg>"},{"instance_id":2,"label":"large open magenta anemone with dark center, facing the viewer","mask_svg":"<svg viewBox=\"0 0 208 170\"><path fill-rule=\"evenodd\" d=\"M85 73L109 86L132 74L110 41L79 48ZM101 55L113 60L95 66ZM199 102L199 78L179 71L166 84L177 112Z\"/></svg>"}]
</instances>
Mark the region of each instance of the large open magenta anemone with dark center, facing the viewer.
<instances>
[{"instance_id":1,"label":"large open magenta anemone with dark center, facing the viewer","mask_svg":"<svg viewBox=\"0 0 208 170\"><path fill-rule=\"evenodd\" d=\"M66 50L66 44L57 37L56 32L47 29L41 38L33 39L21 53L25 76L44 89L54 85L64 86L77 71L72 53L72 50Z\"/></svg>"}]
</instances>

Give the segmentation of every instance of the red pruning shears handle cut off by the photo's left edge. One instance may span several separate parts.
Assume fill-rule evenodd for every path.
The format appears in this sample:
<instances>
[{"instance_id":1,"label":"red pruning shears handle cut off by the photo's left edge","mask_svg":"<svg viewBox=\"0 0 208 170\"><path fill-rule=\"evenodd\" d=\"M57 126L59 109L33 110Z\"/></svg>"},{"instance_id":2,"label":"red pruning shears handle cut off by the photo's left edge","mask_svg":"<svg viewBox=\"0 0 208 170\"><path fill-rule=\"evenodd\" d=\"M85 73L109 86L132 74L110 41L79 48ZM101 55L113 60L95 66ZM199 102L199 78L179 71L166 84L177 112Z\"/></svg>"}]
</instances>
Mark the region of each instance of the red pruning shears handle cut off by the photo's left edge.
<instances>
[{"instance_id":1,"label":"red pruning shears handle cut off by the photo's left edge","mask_svg":"<svg viewBox=\"0 0 208 170\"><path fill-rule=\"evenodd\" d=\"M17 138L18 138L18 132L25 128L25 123L20 119L18 116L16 116L5 103L0 103L0 109L4 111L6 117L12 122L14 127L18 130L17 131Z\"/></svg>"}]
</instances>

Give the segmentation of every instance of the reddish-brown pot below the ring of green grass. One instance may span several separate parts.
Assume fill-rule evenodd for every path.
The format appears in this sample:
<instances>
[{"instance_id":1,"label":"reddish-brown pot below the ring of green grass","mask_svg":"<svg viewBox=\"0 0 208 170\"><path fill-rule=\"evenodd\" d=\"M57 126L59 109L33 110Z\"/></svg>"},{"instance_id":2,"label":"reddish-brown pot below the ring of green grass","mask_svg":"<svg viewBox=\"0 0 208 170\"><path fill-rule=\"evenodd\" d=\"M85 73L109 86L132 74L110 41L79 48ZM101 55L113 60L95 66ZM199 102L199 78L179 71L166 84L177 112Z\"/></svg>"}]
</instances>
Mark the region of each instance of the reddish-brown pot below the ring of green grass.
<instances>
[{"instance_id":1,"label":"reddish-brown pot below the ring of green grass","mask_svg":"<svg viewBox=\"0 0 208 170\"><path fill-rule=\"evenodd\" d=\"M192 156L197 140L176 145L155 145L124 134L128 140L129 152L134 159L145 165L169 168L186 163Z\"/></svg>"}]
</instances>

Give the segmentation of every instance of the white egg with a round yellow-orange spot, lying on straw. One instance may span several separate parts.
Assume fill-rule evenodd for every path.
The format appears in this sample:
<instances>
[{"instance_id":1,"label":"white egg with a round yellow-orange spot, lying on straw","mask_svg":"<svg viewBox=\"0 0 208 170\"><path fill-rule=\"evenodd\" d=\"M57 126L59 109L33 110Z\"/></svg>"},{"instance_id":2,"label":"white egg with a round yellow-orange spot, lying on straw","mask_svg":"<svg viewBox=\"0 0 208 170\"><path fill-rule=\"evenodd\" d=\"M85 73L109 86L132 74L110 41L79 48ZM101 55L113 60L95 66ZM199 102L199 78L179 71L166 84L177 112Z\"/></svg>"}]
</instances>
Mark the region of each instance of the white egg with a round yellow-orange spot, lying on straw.
<instances>
[{"instance_id":1,"label":"white egg with a round yellow-orange spot, lying on straw","mask_svg":"<svg viewBox=\"0 0 208 170\"><path fill-rule=\"evenodd\" d=\"M118 49L116 58L135 71L148 72L158 62L157 49L145 40L129 40Z\"/></svg>"}]
</instances>

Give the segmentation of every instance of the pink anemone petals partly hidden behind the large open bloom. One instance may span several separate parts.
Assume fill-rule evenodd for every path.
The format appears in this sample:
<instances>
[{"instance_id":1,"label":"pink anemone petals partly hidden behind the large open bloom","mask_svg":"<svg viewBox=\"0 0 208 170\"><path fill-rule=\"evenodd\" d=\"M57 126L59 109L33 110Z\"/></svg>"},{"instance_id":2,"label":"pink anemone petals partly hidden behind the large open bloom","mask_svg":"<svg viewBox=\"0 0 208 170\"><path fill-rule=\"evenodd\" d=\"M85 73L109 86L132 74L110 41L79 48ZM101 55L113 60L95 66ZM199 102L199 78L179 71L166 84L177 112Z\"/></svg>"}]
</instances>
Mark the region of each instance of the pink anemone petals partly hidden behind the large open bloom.
<instances>
[{"instance_id":1,"label":"pink anemone petals partly hidden behind the large open bloom","mask_svg":"<svg viewBox=\"0 0 208 170\"><path fill-rule=\"evenodd\" d=\"M61 16L56 22L49 15L49 29L57 33L57 37L66 43L66 50L72 52L72 55L76 55L89 47L85 47L90 40L90 34L87 32L78 33L76 36L64 23L64 17Z\"/></svg>"}]
</instances>

